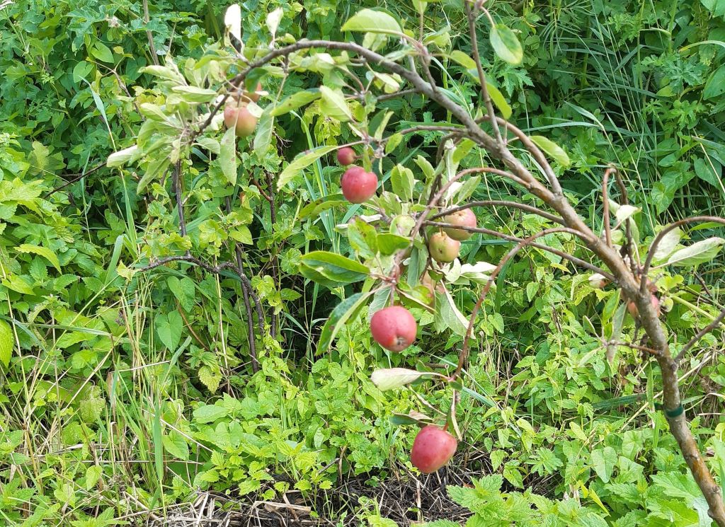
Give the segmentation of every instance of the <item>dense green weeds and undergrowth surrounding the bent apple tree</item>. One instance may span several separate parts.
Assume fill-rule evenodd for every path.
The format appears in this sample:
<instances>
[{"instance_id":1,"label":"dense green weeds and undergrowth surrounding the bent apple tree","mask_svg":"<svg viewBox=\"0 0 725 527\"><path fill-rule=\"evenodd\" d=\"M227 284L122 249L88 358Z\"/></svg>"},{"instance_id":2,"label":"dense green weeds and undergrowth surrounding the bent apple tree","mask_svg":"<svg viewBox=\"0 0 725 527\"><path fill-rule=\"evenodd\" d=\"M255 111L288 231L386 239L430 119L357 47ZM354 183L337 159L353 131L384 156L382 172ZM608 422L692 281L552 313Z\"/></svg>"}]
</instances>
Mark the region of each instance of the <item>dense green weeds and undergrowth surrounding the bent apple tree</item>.
<instances>
[{"instance_id":1,"label":"dense green weeds and undergrowth surrounding the bent apple tree","mask_svg":"<svg viewBox=\"0 0 725 527\"><path fill-rule=\"evenodd\" d=\"M320 340L329 343L328 317L361 289L310 280L305 255L363 262L371 239L376 249L384 243L359 222L339 227L375 212L340 195L335 148L359 140L348 113L371 134L382 123L386 138L455 119L418 94L392 96L410 88L393 76L363 77L378 96L364 101L376 108L370 115L363 101L331 108L338 99L328 96L322 104L309 90L326 83L350 93L354 81L318 57L291 64L294 75L267 72L260 107L289 104L262 117L255 135L235 143L212 126L184 150L169 138L209 111L216 90L242 69L225 38L227 7L74 0L0 9L0 523L95 527L176 515L181 524L205 495L247 511L252 525L280 518L264 506L254 516L254 502L302 507L281 507L287 523L711 525L658 408L656 363L646 350L602 344L617 325L617 340L642 336L624 300L542 250L526 248L502 269L476 317L455 405L456 457L434 476L413 468L418 428L399 422L412 410L445 414L451 389L424 382L383 392L370 373L452 373L465 334L457 312L471 313L485 280L454 269L436 313L413 303L418 340L402 353L370 337L380 298L318 353ZM421 4L249 1L242 40L260 55L273 34L276 46L363 43L363 33L341 32L363 7L418 31ZM486 7L523 50L518 64L501 59L491 26L479 21L497 112L562 149L542 146L589 224L603 228L610 164L632 205L613 204L612 234L621 243L629 224L642 258L663 224L723 215L720 2ZM463 4L427 4L422 27L439 53L436 82L452 98L478 101ZM379 40L365 44L392 51ZM443 135L421 129L388 141L375 165L386 189L417 195L405 182L426 185L439 157L445 162ZM128 159L133 146L146 152L140 162ZM326 153L289 169L320 147ZM476 148L451 156L461 169L486 162ZM283 174L289 180L279 185ZM490 174L474 181L457 199L540 204ZM616 185L610 194L622 203ZM551 227L526 211L474 210L479 227L516 237ZM716 224L682 227L655 259L674 353L720 312L722 234ZM571 236L539 241L587 254ZM694 258L692 250L673 257L698 242L705 245ZM460 262L496 265L513 245L479 233L461 245ZM186 261L159 265L170 256ZM721 337L703 337L680 368L692 433L719 482Z\"/></svg>"}]
</instances>

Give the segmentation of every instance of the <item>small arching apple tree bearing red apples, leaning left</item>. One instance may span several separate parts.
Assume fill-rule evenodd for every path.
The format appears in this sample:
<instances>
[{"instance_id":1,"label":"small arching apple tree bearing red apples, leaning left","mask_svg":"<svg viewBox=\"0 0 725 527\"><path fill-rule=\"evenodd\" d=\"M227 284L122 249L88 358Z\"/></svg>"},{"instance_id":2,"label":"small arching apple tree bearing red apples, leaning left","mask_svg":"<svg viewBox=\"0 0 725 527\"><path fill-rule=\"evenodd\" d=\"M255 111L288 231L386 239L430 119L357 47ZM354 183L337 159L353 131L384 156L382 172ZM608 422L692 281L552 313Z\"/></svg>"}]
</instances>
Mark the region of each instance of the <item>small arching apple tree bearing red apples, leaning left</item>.
<instances>
[{"instance_id":1,"label":"small arching apple tree bearing red apples, leaning left","mask_svg":"<svg viewBox=\"0 0 725 527\"><path fill-rule=\"evenodd\" d=\"M405 28L381 10L357 12L344 23L342 30L362 35L362 44L294 41L289 35L278 36L283 12L277 9L267 19L268 46L254 48L242 43L239 7L231 7L226 17L230 39L227 44L231 46L211 46L202 59L189 59L183 73L173 62L146 67L147 73L159 77L157 89L162 93L162 100L140 105L146 122L136 145L112 154L109 166L138 161L144 171L140 190L149 182L162 180L170 171L179 234L185 237L182 183L192 152L201 148L217 156L230 188L228 195L233 198L239 151L249 151L249 155L264 159L275 136L276 119L303 106L315 106L319 114L344 123L359 139L342 146L319 146L300 153L277 175L276 187L278 190L288 187L308 166L334 155L345 167L340 180L341 194L327 195L310 203L299 212L300 217L320 216L347 202L359 204L357 211L365 213L338 226L347 233L357 258L315 250L303 255L299 263L302 275L343 299L323 327L318 351L327 350L341 327L365 305L371 316L373 339L391 353L404 350L415 340L417 324L409 309L432 313L435 330L457 332L461 337L457 366L445 374L407 368L380 369L372 374L373 382L383 390L407 384L414 387L421 381L431 380L447 384L452 391L450 408L439 411L440 419L416 412L399 417L400 422L422 426L413 444L412 463L430 473L441 468L455 453L456 436L460 439L455 407L458 394L464 389L463 373L471 342L481 324L479 313L484 300L508 261L524 248L537 248L589 271L589 282L594 287L616 291L601 316L602 343L608 355L616 347L625 345L657 361L661 371L662 408L671 433L708 502L709 514L718 526L725 527L720 489L689 429L678 381L682 358L701 337L719 326L725 311L686 344L671 345L660 321L658 290L660 279L668 279L665 272L668 265L708 261L725 242L713 237L683 248L679 244L680 228L696 222L725 224L725 219L710 216L683 219L659 229L649 246L642 248L637 225L632 221L638 209L628 203L624 180L611 167L602 177L602 222L598 227L589 226L568 201L558 180L557 172L562 172L569 163L566 152L551 140L527 135L508 122L510 106L486 81L476 28L480 24L489 25L492 49L499 59L512 64L521 62L523 56L515 33L494 22L485 0L465 1L472 49L469 56L449 49L450 38L445 32L425 33L426 2L414 0L414 4L420 15L420 24L414 28ZM478 83L480 93L476 100L464 101L436 82L436 76L448 75L441 67L442 58L459 64L464 75ZM235 69L238 73L233 75ZM282 98L283 87L294 75L318 75L321 83L318 88L299 90ZM269 91L265 91L265 86ZM276 90L271 90L273 86ZM450 121L386 133L394 112L381 111L376 104L410 93L423 96L430 104L447 111ZM386 173L383 161L389 164L390 159L386 158L392 157L404 138L421 132L437 132L441 136L435 162L418 156L415 171L403 164L394 164ZM460 162L474 149L485 154L481 159L487 163L459 170ZM469 201L482 177L518 187L534 204ZM618 186L619 203L608 198L610 182ZM233 209L233 199L228 203L230 206ZM525 239L505 235L478 227L473 207L518 209L540 216L551 227ZM614 224L612 216L616 219ZM515 245L495 266L485 261L462 265L458 259L460 242L473 233L500 237ZM589 256L579 258L551 248L542 238L552 236L579 240ZM133 272L180 261L202 266L212 273L232 270L239 274L244 291L252 295L239 263L239 250L236 253L230 250L230 253L228 261L211 264L190 249L181 250L174 256L150 257L146 265ZM360 282L362 287L357 292L345 294L345 287ZM471 313L461 313L457 308L449 291L454 283L478 289L478 300ZM246 295L245 300L251 321L252 308ZM258 307L258 299L252 300ZM637 330L635 339L621 342L627 312L634 318ZM257 317L262 321L258 311ZM267 331L263 323L260 325L260 332ZM589 326L594 330L592 324ZM643 332L641 337L638 331ZM252 332L249 340L256 371Z\"/></svg>"}]
</instances>

